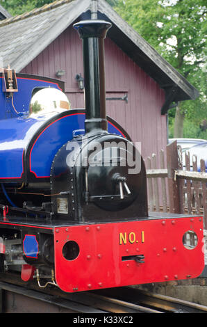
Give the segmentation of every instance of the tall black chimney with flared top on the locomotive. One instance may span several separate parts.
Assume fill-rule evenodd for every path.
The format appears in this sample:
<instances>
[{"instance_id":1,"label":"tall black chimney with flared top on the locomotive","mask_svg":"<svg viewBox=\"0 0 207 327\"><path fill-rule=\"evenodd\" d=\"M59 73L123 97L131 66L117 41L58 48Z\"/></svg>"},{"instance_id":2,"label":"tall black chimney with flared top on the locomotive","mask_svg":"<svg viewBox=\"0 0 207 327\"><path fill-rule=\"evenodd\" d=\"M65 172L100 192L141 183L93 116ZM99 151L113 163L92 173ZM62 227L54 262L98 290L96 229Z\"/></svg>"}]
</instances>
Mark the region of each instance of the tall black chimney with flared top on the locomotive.
<instances>
[{"instance_id":1,"label":"tall black chimney with flared top on the locomotive","mask_svg":"<svg viewBox=\"0 0 207 327\"><path fill-rule=\"evenodd\" d=\"M84 20L74 24L83 39L85 79L85 132L107 131L104 72L104 38L111 24L104 20Z\"/></svg>"}]
</instances>

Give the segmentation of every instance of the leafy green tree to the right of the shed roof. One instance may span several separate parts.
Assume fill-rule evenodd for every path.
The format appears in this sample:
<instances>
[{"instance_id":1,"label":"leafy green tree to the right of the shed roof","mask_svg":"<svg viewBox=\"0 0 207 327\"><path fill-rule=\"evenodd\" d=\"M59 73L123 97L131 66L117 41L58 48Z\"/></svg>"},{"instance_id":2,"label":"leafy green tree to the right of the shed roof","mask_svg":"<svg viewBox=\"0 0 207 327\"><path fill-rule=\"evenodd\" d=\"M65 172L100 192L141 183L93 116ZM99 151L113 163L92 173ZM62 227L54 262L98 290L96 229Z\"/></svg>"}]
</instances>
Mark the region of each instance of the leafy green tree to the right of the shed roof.
<instances>
[{"instance_id":1,"label":"leafy green tree to the right of the shed roof","mask_svg":"<svg viewBox=\"0 0 207 327\"><path fill-rule=\"evenodd\" d=\"M183 137L185 118L199 126L207 116L206 1L119 0L115 10L199 90L198 99L172 111L174 137Z\"/></svg>"}]
</instances>

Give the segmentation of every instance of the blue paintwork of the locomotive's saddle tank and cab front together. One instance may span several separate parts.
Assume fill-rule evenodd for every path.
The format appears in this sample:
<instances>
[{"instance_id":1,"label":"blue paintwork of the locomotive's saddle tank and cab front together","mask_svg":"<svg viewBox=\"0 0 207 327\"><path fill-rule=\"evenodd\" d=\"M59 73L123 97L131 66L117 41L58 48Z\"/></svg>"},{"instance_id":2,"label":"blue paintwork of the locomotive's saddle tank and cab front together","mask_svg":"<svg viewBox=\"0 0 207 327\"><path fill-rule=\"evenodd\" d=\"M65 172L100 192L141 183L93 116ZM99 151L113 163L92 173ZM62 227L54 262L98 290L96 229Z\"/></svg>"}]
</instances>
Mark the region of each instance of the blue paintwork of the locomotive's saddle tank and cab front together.
<instances>
[{"instance_id":1,"label":"blue paintwork of the locomotive's saddle tank and cab front together","mask_svg":"<svg viewBox=\"0 0 207 327\"><path fill-rule=\"evenodd\" d=\"M26 180L26 174L32 172L35 177L49 177L51 163L56 152L72 140L74 131L84 131L85 114L80 111L65 111L56 115L28 116L29 103L34 88L58 88L53 81L17 77L19 91L14 93L15 113L11 99L2 93L0 77L0 182L11 179ZM108 131L122 133L108 123ZM24 171L24 166L28 171ZM24 173L24 174L23 174Z\"/></svg>"}]
</instances>

